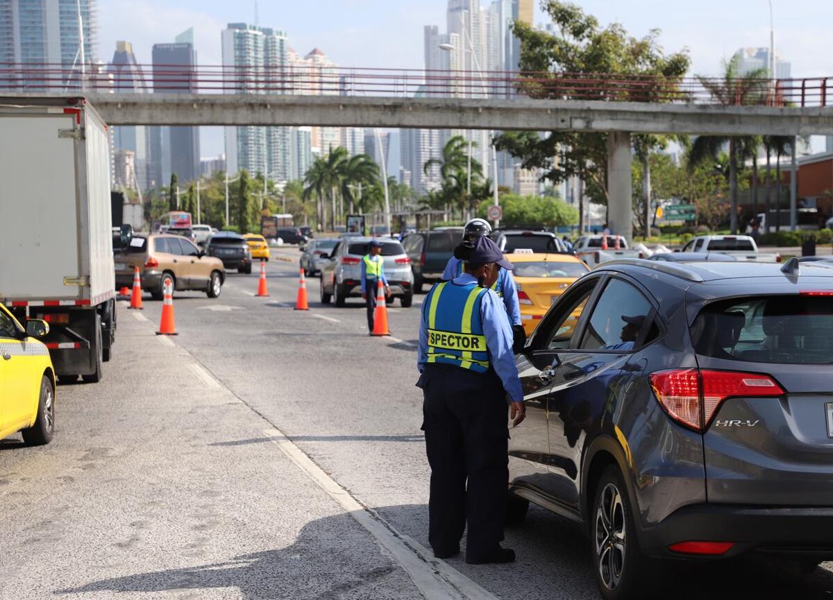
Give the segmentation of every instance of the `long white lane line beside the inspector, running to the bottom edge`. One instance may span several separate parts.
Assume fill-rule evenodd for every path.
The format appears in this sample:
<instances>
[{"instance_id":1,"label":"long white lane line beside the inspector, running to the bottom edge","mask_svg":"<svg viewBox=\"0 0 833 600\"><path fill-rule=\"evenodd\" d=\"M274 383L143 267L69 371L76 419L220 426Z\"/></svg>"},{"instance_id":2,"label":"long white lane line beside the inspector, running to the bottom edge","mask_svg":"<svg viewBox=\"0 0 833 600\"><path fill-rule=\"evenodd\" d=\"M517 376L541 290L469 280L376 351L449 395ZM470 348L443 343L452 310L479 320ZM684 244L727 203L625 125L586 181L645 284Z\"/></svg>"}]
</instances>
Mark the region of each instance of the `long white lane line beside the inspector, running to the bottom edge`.
<instances>
[{"instance_id":1,"label":"long white lane line beside the inspector, running to the bottom edge","mask_svg":"<svg viewBox=\"0 0 833 600\"><path fill-rule=\"evenodd\" d=\"M341 506L352 518L367 529L377 542L391 553L425 598L431 600L497 600L465 575L444 561L433 557L427 548L415 539L399 533L372 508L368 508L355 496L332 479L315 464L302 449L292 443L280 429L267 429L272 442L292 460L307 476Z\"/></svg>"}]
</instances>

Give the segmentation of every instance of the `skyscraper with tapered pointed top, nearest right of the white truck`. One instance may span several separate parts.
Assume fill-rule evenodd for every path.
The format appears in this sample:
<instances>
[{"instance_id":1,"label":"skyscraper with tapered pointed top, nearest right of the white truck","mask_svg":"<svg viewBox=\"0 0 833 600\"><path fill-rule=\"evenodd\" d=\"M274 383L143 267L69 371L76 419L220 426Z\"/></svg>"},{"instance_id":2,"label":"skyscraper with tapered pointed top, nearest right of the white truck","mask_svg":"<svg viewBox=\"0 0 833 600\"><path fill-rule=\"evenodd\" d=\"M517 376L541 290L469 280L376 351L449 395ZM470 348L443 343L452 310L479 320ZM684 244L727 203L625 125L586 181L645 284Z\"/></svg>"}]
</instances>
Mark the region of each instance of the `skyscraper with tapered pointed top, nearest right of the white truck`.
<instances>
[{"instance_id":1,"label":"skyscraper with tapered pointed top, nearest right of the white truck","mask_svg":"<svg viewBox=\"0 0 833 600\"><path fill-rule=\"evenodd\" d=\"M142 67L136 62L133 55L133 47L130 42L116 42L116 51L112 54L112 60L107 65L107 72L112 76L112 90L117 94L143 94L147 93L147 81ZM147 127L145 126L114 126L112 131L112 166L114 181L117 151L131 151L134 161L134 172L142 190L149 187L147 177L147 154L149 141L147 139ZM127 172L127 171L126 171ZM134 185L130 181L130 186Z\"/></svg>"}]
</instances>

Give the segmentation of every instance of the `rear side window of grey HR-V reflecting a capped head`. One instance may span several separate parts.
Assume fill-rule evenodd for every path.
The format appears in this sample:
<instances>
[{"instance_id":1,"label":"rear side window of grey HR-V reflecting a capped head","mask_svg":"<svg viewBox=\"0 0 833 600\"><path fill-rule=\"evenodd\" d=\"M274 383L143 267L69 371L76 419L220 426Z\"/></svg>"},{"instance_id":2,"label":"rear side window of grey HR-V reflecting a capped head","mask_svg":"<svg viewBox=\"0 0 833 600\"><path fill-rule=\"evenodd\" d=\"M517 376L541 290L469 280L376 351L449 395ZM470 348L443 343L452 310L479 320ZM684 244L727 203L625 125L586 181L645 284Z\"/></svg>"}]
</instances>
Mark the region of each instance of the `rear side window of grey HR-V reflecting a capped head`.
<instances>
[{"instance_id":1,"label":"rear side window of grey HR-V reflecting a capped head","mask_svg":"<svg viewBox=\"0 0 833 600\"><path fill-rule=\"evenodd\" d=\"M581 349L637 350L644 344L640 342L641 332L654 326L648 322L652 310L651 302L633 285L609 280L587 321Z\"/></svg>"}]
</instances>

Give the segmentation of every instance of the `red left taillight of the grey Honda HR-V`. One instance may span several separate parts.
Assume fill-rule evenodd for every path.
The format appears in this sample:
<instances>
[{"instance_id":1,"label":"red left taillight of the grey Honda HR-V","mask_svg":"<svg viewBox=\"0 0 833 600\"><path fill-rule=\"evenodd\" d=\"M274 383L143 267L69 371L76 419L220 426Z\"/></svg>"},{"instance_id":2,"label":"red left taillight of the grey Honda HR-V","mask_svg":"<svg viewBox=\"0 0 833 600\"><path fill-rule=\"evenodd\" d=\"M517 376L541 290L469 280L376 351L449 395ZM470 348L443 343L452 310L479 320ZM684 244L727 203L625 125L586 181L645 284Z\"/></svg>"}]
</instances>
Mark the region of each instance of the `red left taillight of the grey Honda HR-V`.
<instances>
[{"instance_id":1,"label":"red left taillight of the grey Honda HR-V","mask_svg":"<svg viewBox=\"0 0 833 600\"><path fill-rule=\"evenodd\" d=\"M698 369L652 373L651 387L671 419L697 432L708 429L711 418L728 398L785 394L769 375Z\"/></svg>"}]
</instances>

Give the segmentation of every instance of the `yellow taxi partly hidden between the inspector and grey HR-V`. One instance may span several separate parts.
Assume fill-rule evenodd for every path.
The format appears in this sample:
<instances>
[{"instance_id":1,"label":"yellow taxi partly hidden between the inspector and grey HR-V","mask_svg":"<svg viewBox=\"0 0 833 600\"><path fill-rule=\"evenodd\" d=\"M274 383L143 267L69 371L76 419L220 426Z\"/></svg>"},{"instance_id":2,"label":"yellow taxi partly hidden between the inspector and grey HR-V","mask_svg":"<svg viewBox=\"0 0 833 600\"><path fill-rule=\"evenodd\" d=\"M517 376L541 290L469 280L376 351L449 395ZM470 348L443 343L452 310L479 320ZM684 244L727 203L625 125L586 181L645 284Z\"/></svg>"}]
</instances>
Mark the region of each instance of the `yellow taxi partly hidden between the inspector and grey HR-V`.
<instances>
[{"instance_id":1,"label":"yellow taxi partly hidden between the inspector and grey HR-V","mask_svg":"<svg viewBox=\"0 0 833 600\"><path fill-rule=\"evenodd\" d=\"M507 254L506 258L515 265L512 275L526 335L535 330L564 290L590 270L583 261L568 254L539 254L519 249Z\"/></svg>"}]
</instances>

